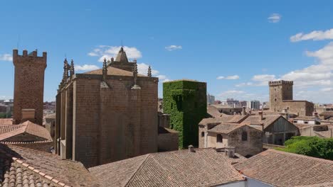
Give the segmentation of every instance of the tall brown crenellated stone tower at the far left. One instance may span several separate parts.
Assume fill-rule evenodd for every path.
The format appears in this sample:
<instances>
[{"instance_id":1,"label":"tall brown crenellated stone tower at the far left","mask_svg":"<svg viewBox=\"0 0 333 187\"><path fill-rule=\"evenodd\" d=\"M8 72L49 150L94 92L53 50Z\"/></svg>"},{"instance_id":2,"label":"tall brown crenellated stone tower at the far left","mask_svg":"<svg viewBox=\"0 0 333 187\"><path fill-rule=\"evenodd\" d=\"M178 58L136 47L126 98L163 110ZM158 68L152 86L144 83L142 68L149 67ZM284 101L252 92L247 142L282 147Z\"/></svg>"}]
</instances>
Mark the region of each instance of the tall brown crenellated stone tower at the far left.
<instances>
[{"instance_id":1,"label":"tall brown crenellated stone tower at the far left","mask_svg":"<svg viewBox=\"0 0 333 187\"><path fill-rule=\"evenodd\" d=\"M43 52L43 57L38 57L37 50L29 54L27 50L23 50L23 55L18 55L18 50L13 50L13 63L14 123L22 123L26 118L22 115L22 111L29 111L29 116L33 117L28 120L34 120L33 123L42 125L46 52Z\"/></svg>"}]
</instances>

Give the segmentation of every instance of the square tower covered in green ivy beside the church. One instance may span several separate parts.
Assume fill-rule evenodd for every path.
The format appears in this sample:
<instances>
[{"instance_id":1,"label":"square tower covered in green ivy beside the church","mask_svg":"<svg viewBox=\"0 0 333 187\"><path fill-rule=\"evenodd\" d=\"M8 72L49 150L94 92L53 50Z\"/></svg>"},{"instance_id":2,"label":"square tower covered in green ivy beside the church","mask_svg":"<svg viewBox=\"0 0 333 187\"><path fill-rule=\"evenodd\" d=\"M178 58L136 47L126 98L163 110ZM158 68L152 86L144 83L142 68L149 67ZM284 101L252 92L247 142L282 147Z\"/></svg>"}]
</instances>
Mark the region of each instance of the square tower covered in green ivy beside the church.
<instances>
[{"instance_id":1,"label":"square tower covered in green ivy beside the church","mask_svg":"<svg viewBox=\"0 0 333 187\"><path fill-rule=\"evenodd\" d=\"M179 131L179 148L198 146L199 122L207 113L206 82L164 82L163 110L170 115L170 128Z\"/></svg>"}]
</instances>

